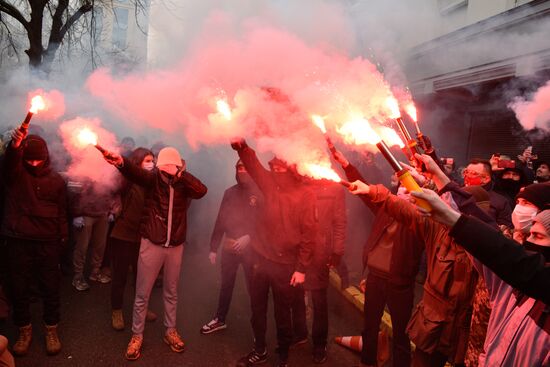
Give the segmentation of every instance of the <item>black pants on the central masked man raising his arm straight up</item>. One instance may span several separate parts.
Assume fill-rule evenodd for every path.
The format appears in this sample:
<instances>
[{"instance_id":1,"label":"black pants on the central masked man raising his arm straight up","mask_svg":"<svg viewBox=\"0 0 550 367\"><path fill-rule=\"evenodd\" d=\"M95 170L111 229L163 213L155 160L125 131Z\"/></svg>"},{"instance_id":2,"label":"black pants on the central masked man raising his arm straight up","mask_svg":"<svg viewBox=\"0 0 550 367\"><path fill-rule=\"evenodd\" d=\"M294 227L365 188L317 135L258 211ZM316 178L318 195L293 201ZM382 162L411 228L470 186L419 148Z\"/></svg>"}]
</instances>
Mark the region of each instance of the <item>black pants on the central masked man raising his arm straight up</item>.
<instances>
[{"instance_id":1,"label":"black pants on the central masked man raising his arm straight up","mask_svg":"<svg viewBox=\"0 0 550 367\"><path fill-rule=\"evenodd\" d=\"M266 348L265 332L267 329L267 304L269 289L273 292L273 308L277 326L277 342L279 354L288 356L292 342L291 306L296 289L290 285L294 273L294 265L279 264L260 255L254 259L254 272L250 287L252 305L252 329L254 331L254 347L257 351Z\"/></svg>"}]
</instances>

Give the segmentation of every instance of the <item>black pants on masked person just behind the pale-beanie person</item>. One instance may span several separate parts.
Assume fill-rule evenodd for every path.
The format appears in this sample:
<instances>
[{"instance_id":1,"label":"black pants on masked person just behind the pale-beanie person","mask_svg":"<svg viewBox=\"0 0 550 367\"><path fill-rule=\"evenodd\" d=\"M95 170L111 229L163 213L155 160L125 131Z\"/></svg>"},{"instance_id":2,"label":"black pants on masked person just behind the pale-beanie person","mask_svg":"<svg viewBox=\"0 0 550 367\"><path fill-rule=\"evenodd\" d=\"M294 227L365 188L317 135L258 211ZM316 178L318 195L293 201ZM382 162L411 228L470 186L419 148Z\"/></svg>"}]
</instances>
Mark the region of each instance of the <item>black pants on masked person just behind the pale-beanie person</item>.
<instances>
[{"instance_id":1,"label":"black pants on masked person just behind the pale-beanie person","mask_svg":"<svg viewBox=\"0 0 550 367\"><path fill-rule=\"evenodd\" d=\"M132 266L134 282L137 274L137 259L139 256L139 242L129 242L110 238L112 255L112 284L111 284L111 308L120 310L124 299L124 288L128 279L128 269Z\"/></svg>"}]
</instances>

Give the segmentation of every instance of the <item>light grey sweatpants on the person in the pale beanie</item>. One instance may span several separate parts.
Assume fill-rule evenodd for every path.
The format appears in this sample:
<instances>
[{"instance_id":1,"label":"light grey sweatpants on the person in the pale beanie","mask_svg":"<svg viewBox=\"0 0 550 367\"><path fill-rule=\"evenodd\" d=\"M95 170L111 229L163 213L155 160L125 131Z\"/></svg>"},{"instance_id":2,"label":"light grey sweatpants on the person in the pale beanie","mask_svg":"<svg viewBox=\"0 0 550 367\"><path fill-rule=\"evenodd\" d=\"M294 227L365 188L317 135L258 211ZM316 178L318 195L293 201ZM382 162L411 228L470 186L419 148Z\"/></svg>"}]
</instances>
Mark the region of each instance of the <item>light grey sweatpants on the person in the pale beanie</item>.
<instances>
[{"instance_id":1,"label":"light grey sweatpants on the person in the pale beanie","mask_svg":"<svg viewBox=\"0 0 550 367\"><path fill-rule=\"evenodd\" d=\"M134 334L143 334L151 290L163 266L164 326L166 328L176 327L178 283L182 255L183 245L162 247L155 245L146 238L141 239L137 269L136 299L134 301L132 321L132 332Z\"/></svg>"}]
</instances>

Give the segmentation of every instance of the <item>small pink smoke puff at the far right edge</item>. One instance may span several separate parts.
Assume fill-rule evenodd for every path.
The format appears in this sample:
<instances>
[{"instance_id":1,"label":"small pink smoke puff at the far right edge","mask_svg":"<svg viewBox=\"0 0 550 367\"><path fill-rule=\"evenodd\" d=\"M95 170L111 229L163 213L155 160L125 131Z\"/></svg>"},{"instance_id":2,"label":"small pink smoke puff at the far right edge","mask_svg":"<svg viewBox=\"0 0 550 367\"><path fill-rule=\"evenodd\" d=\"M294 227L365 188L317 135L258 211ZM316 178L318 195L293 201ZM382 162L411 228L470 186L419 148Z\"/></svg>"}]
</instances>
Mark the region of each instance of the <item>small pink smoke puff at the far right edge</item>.
<instances>
[{"instance_id":1,"label":"small pink smoke puff at the far right edge","mask_svg":"<svg viewBox=\"0 0 550 367\"><path fill-rule=\"evenodd\" d=\"M550 81L529 99L516 97L508 107L526 130L538 128L550 132Z\"/></svg>"}]
</instances>

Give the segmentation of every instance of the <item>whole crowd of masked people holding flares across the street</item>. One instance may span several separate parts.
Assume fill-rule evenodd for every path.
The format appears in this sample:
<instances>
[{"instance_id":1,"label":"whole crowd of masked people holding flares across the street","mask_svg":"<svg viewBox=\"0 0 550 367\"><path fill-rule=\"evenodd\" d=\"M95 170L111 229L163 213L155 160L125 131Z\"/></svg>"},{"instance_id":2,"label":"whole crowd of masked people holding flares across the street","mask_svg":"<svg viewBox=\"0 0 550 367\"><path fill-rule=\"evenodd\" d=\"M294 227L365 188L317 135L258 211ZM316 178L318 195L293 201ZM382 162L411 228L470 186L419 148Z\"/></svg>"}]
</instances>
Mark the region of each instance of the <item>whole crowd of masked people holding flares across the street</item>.
<instances>
[{"instance_id":1,"label":"whole crowd of masked people holding flares across the street","mask_svg":"<svg viewBox=\"0 0 550 367\"><path fill-rule=\"evenodd\" d=\"M5 140L0 318L11 314L19 335L9 349L0 336L0 365L14 365L10 350L16 356L29 350L34 285L43 303L46 351L60 352L60 264L70 269L77 291L89 289L90 281L111 284L115 330L125 327L125 288L129 275L135 279L128 360L140 358L146 321L157 317L148 305L160 280L164 342L183 352L176 311L187 213L207 187L178 150L134 148L126 140L121 153L104 153L121 177L116 190L106 191L97 187L101 183L56 172L43 137L14 129ZM550 366L550 166L533 166L530 149L517 161L495 154L461 170L451 158L417 154L406 169L423 189L408 192L399 180L389 188L367 180L364 162L350 162L338 150L332 158L352 182L348 190L304 177L279 157L264 167L244 139L231 147L236 184L224 192L208 253L212 264L221 263L219 298L200 332L227 328L242 266L253 345L238 367L268 361L270 291L276 366L288 366L291 347L307 343L309 335L313 363L327 361L327 289L330 269L341 267L345 253L346 191L374 216L362 257L362 365L377 365L387 306L394 366ZM431 210L416 206L419 200ZM421 268L423 293L415 306Z\"/></svg>"}]
</instances>

